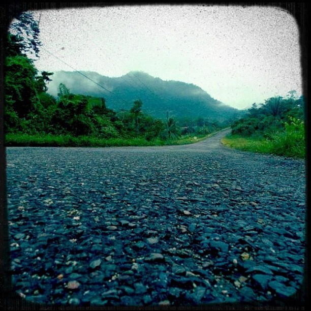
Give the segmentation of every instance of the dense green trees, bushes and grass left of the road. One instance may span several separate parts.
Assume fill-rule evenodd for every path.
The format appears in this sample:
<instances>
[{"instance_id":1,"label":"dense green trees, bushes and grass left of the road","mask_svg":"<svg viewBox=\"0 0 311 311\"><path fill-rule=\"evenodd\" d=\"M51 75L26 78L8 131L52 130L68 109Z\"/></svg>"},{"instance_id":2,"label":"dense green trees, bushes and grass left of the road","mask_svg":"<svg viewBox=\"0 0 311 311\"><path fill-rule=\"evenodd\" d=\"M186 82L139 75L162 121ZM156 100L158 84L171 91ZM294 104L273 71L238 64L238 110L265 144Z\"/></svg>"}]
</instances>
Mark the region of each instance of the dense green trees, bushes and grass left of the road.
<instances>
[{"instance_id":1,"label":"dense green trees, bushes and grass left of the road","mask_svg":"<svg viewBox=\"0 0 311 311\"><path fill-rule=\"evenodd\" d=\"M39 28L21 13L8 33L5 59L6 146L149 146L192 143L228 126L207 118L165 119L143 112L141 100L129 110L107 108L104 98L72 94L64 83L48 94L53 73L35 67ZM197 139L195 139L196 137Z\"/></svg>"}]
</instances>

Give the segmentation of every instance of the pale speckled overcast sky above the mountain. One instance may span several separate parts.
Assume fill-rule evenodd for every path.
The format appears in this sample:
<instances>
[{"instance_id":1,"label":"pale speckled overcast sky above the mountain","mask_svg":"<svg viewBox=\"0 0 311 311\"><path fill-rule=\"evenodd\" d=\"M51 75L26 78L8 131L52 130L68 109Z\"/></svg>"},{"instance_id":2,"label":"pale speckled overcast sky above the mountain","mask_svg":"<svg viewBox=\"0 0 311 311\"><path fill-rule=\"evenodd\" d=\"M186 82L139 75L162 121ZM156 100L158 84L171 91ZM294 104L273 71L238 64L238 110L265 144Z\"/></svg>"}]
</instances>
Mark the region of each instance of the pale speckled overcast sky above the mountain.
<instances>
[{"instance_id":1,"label":"pale speckled overcast sky above the mountain","mask_svg":"<svg viewBox=\"0 0 311 311\"><path fill-rule=\"evenodd\" d=\"M43 48L79 71L144 71L196 84L239 109L290 90L301 95L298 27L279 8L147 5L35 16ZM39 55L39 71L72 71L42 48Z\"/></svg>"}]
</instances>

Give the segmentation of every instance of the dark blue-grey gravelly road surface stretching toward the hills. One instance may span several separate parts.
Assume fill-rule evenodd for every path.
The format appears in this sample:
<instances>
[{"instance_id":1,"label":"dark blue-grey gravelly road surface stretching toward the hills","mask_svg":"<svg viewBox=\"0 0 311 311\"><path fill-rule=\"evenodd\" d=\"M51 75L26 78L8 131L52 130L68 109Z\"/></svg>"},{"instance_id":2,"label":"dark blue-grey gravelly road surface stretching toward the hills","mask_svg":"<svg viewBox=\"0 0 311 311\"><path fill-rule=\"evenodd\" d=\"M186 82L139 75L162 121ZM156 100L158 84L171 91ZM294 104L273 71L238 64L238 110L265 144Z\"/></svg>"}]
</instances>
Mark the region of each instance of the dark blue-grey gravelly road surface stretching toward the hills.
<instances>
[{"instance_id":1,"label":"dark blue-grey gravelly road surface stretching toward the hills","mask_svg":"<svg viewBox=\"0 0 311 311\"><path fill-rule=\"evenodd\" d=\"M305 163L183 146L8 147L11 275L42 304L290 299L303 283Z\"/></svg>"}]
</instances>

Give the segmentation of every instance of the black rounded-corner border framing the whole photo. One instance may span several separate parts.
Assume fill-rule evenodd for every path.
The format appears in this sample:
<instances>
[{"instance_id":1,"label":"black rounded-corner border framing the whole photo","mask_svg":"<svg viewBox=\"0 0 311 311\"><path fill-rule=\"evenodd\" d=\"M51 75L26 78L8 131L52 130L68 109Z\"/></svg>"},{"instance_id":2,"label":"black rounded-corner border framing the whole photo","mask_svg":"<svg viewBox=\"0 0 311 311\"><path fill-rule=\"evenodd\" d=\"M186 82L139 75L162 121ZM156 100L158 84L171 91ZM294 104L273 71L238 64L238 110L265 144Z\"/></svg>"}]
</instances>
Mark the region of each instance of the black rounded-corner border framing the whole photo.
<instances>
[{"instance_id":1,"label":"black rounded-corner border framing the whole photo","mask_svg":"<svg viewBox=\"0 0 311 311\"><path fill-rule=\"evenodd\" d=\"M17 310L81 310L81 309L92 309L92 310L101 310L101 309L189 309L188 307L161 307L161 306L148 306L148 307L101 307L101 306L90 306L90 307L79 307L79 306L56 306L56 305L41 305L34 302L26 301L19 297L16 293L12 292L12 281L9 273L10 270L10 256L9 256L9 230L8 230L8 213L7 213L7 197L6 197L6 150L4 146L4 94L3 94L3 81L4 81L4 45L5 38L7 34L7 29L11 20L16 14L22 11L27 10L48 10L48 9L61 9L61 8L86 8L86 7L107 7L107 6L122 6L122 5L159 5L159 4L170 4L170 5L182 5L182 4L199 4L199 5L238 5L238 6L268 6L268 7L277 7L283 9L290 13L297 22L299 33L300 33L300 48L301 48L301 67L302 67L302 86L303 86L303 96L305 98L305 135L306 135L306 159L309 158L309 136L308 133L308 101L307 101L307 35L308 35L308 6L307 3L301 2L261 2L261 3L244 3L244 2L177 2L177 3L165 3L165 2L154 2L154 3L110 3L110 2L97 2L97 3L87 3L87 2L66 2L66 3L51 3L51 2L20 2L20 1L11 1L7 4L0 5L0 306L4 309L17 309ZM308 172L308 165L306 161L306 171ZM308 300L308 219L309 212L308 207L308 186L307 186L307 173L306 173L306 251L305 251L305 275L304 282L300 290L297 293L288 298L288 299L278 299L271 302L267 301L258 301L258 302L237 302L230 304L210 304L202 305L198 307L192 307L191 309L304 309L307 305Z\"/></svg>"}]
</instances>

